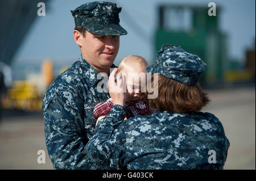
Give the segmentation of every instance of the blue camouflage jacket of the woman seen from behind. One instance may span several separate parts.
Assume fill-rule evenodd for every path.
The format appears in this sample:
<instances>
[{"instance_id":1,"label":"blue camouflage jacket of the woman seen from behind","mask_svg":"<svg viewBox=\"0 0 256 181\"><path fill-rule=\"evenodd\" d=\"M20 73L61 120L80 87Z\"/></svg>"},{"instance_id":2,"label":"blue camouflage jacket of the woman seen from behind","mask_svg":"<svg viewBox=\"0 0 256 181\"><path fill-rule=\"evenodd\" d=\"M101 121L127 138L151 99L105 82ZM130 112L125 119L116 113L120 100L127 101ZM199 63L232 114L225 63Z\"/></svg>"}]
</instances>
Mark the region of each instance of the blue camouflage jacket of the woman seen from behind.
<instances>
[{"instance_id":1,"label":"blue camouflage jacket of the woman seen from behind","mask_svg":"<svg viewBox=\"0 0 256 181\"><path fill-rule=\"evenodd\" d=\"M223 169L229 140L211 113L124 117L125 109L114 105L86 145L104 169ZM216 163L208 163L209 150L216 151Z\"/></svg>"}]
</instances>

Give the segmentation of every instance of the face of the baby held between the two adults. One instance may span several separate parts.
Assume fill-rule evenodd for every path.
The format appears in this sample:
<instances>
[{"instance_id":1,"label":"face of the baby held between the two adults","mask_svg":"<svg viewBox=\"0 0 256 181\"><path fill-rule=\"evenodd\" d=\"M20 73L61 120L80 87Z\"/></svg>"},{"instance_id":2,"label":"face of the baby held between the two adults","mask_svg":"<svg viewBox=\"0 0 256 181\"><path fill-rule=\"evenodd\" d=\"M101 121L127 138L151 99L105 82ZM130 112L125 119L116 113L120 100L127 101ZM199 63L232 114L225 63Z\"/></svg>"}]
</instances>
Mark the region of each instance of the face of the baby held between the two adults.
<instances>
[{"instance_id":1,"label":"face of the baby held between the two adults","mask_svg":"<svg viewBox=\"0 0 256 181\"><path fill-rule=\"evenodd\" d=\"M126 101L143 99L146 92L146 72L139 68L125 68L120 71L126 77Z\"/></svg>"}]
</instances>

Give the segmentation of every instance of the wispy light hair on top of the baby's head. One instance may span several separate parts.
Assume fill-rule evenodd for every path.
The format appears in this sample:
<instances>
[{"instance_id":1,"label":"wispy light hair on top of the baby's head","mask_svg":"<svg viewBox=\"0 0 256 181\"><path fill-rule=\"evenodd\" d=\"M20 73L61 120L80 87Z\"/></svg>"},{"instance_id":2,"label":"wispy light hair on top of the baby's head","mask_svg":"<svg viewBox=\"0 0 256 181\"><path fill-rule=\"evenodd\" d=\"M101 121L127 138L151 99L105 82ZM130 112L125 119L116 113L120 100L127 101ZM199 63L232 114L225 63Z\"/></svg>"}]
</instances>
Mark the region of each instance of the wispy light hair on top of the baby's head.
<instances>
[{"instance_id":1,"label":"wispy light hair on top of the baby's head","mask_svg":"<svg viewBox=\"0 0 256 181\"><path fill-rule=\"evenodd\" d=\"M123 68L127 66L139 66L140 68L145 70L148 65L148 62L143 57L137 55L130 55L123 58L123 60L120 62L118 66L118 72L120 72Z\"/></svg>"}]
</instances>

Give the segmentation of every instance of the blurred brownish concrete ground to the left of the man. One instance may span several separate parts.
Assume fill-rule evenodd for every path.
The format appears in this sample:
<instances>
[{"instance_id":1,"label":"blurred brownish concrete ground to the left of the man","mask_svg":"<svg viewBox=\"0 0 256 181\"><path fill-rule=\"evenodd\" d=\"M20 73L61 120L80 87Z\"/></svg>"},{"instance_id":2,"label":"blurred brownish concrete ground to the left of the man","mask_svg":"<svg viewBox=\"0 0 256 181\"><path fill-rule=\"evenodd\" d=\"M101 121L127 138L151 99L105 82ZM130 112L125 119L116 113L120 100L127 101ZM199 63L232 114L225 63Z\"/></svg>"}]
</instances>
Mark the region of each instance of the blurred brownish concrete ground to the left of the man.
<instances>
[{"instance_id":1,"label":"blurred brownish concrete ground to the left of the man","mask_svg":"<svg viewBox=\"0 0 256 181\"><path fill-rule=\"evenodd\" d=\"M53 169L44 136L42 112L16 112L0 121L0 169ZM5 113L2 113L5 116ZM38 150L46 153L46 163L38 163Z\"/></svg>"}]
</instances>

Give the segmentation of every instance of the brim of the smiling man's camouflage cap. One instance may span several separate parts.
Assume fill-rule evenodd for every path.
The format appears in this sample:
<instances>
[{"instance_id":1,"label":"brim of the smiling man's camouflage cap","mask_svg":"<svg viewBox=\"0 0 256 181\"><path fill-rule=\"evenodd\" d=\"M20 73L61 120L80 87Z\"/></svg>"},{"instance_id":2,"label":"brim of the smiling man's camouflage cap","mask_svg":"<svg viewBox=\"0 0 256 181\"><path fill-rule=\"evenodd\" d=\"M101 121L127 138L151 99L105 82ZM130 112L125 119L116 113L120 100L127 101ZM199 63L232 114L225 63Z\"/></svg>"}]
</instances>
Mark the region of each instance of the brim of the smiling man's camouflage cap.
<instances>
[{"instance_id":1,"label":"brim of the smiling man's camouflage cap","mask_svg":"<svg viewBox=\"0 0 256 181\"><path fill-rule=\"evenodd\" d=\"M108 26L101 27L86 27L86 30L89 32L95 33L97 35L106 35L106 36L118 36L118 35L126 35L127 31L123 29L119 24L108 24Z\"/></svg>"}]
</instances>

